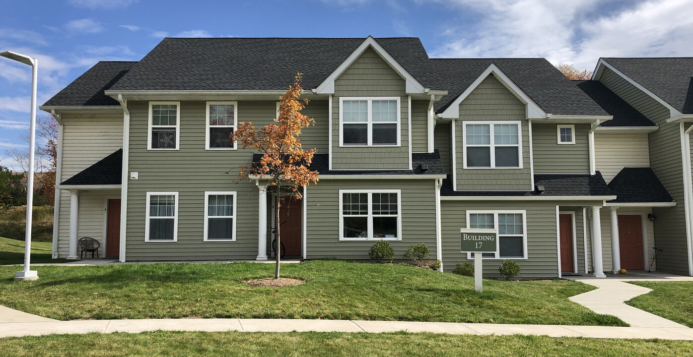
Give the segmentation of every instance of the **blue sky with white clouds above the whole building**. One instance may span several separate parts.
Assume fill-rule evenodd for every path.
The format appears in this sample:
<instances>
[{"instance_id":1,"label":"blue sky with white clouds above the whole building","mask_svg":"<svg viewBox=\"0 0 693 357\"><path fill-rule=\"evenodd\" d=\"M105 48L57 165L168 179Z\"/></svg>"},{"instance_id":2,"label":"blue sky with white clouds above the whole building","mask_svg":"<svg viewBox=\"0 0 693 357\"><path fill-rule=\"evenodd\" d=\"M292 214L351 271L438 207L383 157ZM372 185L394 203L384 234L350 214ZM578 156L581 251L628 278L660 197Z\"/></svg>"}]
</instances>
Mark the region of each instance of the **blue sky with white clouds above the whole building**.
<instances>
[{"instance_id":1,"label":"blue sky with white clouds above the whole building","mask_svg":"<svg viewBox=\"0 0 693 357\"><path fill-rule=\"evenodd\" d=\"M139 60L166 36L414 36L431 57L592 69L599 57L693 56L692 13L693 0L0 0L0 51L40 59L42 104L96 62ZM0 158L26 147L29 89L30 68L0 59Z\"/></svg>"}]
</instances>

